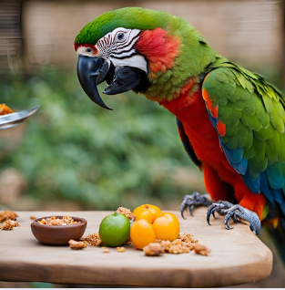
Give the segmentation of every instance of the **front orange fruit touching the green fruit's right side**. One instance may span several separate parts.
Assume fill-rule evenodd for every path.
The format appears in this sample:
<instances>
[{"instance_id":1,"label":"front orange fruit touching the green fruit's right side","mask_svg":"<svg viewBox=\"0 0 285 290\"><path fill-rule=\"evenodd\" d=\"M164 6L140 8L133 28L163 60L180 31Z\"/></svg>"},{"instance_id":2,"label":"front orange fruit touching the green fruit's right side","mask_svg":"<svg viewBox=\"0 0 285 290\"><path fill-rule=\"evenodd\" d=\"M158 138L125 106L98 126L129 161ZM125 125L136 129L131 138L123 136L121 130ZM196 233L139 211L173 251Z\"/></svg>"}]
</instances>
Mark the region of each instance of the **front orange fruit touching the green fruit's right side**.
<instances>
[{"instance_id":1,"label":"front orange fruit touching the green fruit's right side","mask_svg":"<svg viewBox=\"0 0 285 290\"><path fill-rule=\"evenodd\" d=\"M148 223L145 219L141 219L133 223L130 227L130 239L137 249L142 250L148 243L154 243L156 241L156 233L151 223Z\"/></svg>"}]
</instances>

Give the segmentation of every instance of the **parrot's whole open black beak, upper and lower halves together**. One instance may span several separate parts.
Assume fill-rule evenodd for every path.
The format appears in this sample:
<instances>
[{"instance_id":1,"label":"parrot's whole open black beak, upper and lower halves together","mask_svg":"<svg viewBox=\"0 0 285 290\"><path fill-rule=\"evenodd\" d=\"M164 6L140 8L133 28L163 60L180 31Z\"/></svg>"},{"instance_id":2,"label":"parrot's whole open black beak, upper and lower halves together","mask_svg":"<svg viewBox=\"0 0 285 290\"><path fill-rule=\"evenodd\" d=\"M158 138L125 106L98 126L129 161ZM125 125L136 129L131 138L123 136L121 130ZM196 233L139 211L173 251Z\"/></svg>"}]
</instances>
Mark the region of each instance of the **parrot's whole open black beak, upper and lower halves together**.
<instances>
[{"instance_id":1,"label":"parrot's whole open black beak, upper and lower halves together","mask_svg":"<svg viewBox=\"0 0 285 290\"><path fill-rule=\"evenodd\" d=\"M86 57L79 55L77 64L77 76L81 87L87 96L98 106L104 109L108 107L100 97L97 84L106 80L108 86L103 93L116 95L132 88L140 88L139 85L148 84L148 76L145 71L137 67L114 67L114 65L101 57Z\"/></svg>"}]
</instances>

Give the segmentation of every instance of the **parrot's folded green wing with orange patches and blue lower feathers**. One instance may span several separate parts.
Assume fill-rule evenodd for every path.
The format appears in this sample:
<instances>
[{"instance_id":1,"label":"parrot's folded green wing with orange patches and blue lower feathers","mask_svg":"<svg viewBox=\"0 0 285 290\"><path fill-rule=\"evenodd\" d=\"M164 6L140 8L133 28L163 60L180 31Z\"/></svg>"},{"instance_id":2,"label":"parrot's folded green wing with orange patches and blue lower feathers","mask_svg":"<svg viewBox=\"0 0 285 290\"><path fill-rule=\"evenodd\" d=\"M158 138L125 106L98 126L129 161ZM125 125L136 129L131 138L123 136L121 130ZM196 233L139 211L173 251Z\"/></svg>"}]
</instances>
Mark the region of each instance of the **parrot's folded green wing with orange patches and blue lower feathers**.
<instances>
[{"instance_id":1,"label":"parrot's folded green wing with orange patches and blue lower feathers","mask_svg":"<svg viewBox=\"0 0 285 290\"><path fill-rule=\"evenodd\" d=\"M202 89L229 164L252 192L278 200L285 213L285 98L280 90L222 57L209 67Z\"/></svg>"}]
</instances>

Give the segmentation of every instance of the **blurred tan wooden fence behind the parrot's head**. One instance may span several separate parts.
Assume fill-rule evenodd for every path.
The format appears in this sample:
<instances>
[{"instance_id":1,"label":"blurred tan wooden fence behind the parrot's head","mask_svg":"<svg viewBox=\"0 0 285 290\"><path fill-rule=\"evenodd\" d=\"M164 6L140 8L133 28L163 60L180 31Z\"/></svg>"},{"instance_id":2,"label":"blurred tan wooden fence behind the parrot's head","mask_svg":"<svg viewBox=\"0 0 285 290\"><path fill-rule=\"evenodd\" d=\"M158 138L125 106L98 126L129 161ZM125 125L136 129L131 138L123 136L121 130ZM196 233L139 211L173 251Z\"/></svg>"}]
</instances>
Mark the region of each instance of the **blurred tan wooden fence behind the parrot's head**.
<instances>
[{"instance_id":1,"label":"blurred tan wooden fence behind the parrot's head","mask_svg":"<svg viewBox=\"0 0 285 290\"><path fill-rule=\"evenodd\" d=\"M0 70L42 64L76 67L74 38L100 14L142 6L181 16L221 55L249 68L284 67L284 1L0 1Z\"/></svg>"}]
</instances>

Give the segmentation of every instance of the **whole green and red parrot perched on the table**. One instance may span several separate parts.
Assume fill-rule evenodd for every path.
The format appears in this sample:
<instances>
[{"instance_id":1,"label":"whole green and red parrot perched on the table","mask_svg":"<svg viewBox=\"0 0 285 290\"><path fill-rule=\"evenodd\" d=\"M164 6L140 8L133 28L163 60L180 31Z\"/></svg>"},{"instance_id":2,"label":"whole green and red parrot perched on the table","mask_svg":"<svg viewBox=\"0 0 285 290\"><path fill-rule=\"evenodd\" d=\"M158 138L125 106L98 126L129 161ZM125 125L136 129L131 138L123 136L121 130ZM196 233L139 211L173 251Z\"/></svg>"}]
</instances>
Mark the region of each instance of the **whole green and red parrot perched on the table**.
<instances>
[{"instance_id":1,"label":"whole green and red parrot perched on the table","mask_svg":"<svg viewBox=\"0 0 285 290\"><path fill-rule=\"evenodd\" d=\"M285 98L260 74L220 56L187 20L141 7L108 11L75 38L77 77L87 96L133 90L168 109L190 159L203 172L204 195L186 195L181 214L215 212L285 233ZM285 240L285 239L284 239Z\"/></svg>"}]
</instances>

